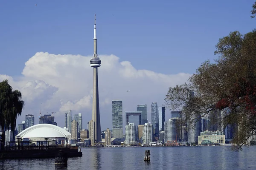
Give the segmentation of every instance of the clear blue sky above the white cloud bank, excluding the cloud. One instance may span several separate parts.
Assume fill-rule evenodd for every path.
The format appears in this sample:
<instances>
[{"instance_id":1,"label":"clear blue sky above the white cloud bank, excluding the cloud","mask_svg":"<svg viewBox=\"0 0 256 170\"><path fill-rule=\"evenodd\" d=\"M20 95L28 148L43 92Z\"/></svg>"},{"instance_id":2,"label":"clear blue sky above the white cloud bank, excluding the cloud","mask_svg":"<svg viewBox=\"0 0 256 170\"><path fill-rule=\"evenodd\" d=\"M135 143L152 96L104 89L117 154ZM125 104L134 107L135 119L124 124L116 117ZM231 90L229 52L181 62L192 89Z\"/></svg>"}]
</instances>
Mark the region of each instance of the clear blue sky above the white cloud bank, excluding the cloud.
<instances>
[{"instance_id":1,"label":"clear blue sky above the white cloud bank, excluding the cloud","mask_svg":"<svg viewBox=\"0 0 256 170\"><path fill-rule=\"evenodd\" d=\"M92 55L94 13L99 54L115 54L137 69L192 74L201 62L217 57L219 38L254 28L253 2L3 0L0 74L19 76L39 51Z\"/></svg>"}]
</instances>

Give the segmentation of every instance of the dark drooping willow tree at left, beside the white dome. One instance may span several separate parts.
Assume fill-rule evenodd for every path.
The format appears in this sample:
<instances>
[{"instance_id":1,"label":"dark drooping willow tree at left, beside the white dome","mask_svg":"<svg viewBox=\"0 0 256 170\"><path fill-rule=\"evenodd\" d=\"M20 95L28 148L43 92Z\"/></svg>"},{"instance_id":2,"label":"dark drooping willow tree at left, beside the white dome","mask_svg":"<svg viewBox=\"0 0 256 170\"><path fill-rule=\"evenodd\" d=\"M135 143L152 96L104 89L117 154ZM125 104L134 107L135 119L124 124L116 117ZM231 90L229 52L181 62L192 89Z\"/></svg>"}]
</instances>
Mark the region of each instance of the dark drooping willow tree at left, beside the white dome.
<instances>
[{"instance_id":1,"label":"dark drooping willow tree at left, beside the white dome","mask_svg":"<svg viewBox=\"0 0 256 170\"><path fill-rule=\"evenodd\" d=\"M3 131L1 138L2 150L5 144L5 130L14 130L16 119L22 113L25 102L21 100L21 93L18 90L12 91L8 80L0 82L0 127Z\"/></svg>"}]
</instances>

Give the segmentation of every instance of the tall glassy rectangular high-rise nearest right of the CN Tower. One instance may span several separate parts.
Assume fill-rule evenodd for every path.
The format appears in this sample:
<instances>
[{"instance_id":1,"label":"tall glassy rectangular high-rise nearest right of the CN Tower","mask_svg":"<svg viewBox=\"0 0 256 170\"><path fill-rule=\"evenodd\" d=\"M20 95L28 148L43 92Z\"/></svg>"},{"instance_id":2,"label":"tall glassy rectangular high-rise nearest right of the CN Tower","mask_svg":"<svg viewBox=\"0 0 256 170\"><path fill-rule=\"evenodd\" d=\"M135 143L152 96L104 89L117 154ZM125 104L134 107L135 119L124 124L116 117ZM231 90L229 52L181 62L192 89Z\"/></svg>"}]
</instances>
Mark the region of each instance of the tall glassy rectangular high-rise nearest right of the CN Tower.
<instances>
[{"instance_id":1,"label":"tall glassy rectangular high-rise nearest right of the CN Tower","mask_svg":"<svg viewBox=\"0 0 256 170\"><path fill-rule=\"evenodd\" d=\"M122 100L112 100L112 130L113 138L123 137L123 121L122 121Z\"/></svg>"}]
</instances>

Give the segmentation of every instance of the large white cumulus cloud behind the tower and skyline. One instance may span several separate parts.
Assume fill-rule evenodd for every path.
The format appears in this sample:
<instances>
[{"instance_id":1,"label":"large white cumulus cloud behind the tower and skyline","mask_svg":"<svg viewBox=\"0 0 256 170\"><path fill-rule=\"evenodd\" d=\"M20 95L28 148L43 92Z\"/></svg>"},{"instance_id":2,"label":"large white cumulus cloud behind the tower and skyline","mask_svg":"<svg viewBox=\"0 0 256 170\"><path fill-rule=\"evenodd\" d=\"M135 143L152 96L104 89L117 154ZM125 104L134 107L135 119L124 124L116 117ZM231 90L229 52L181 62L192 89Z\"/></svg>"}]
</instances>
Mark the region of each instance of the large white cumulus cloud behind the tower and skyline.
<instances>
[{"instance_id":1,"label":"large white cumulus cloud behind the tower and skyline","mask_svg":"<svg viewBox=\"0 0 256 170\"><path fill-rule=\"evenodd\" d=\"M26 102L23 115L17 122L24 120L25 114L34 114L38 123L41 110L42 114L56 112L55 120L63 127L65 111L72 110L73 114L82 113L86 128L92 115L91 57L38 52L25 63L22 77L13 79L0 75L0 81L9 79L12 87L22 92ZM151 102L158 102L161 106L168 88L186 82L190 76L137 70L131 62L120 62L115 55L99 57L102 60L98 70L102 130L112 128L112 99L123 100L123 114L136 111L138 104L147 104L147 117L151 120Z\"/></svg>"}]
</instances>

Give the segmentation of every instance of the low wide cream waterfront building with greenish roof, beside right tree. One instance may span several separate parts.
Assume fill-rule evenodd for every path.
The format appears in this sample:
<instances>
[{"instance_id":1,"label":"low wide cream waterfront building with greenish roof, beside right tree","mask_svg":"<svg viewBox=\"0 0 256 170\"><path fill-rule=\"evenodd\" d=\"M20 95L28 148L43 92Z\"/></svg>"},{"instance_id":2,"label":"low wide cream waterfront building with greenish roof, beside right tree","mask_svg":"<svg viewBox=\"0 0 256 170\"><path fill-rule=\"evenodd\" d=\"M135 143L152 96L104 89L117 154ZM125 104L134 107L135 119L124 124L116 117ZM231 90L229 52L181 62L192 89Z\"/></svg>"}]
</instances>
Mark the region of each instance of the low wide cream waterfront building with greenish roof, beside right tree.
<instances>
[{"instance_id":1,"label":"low wide cream waterfront building with greenish roof, beside right tree","mask_svg":"<svg viewBox=\"0 0 256 170\"><path fill-rule=\"evenodd\" d=\"M215 144L225 144L225 135L223 135L222 131L204 131L200 133L198 136L198 144L201 144L202 141L211 141Z\"/></svg>"}]
</instances>

